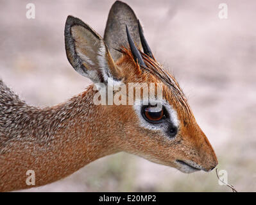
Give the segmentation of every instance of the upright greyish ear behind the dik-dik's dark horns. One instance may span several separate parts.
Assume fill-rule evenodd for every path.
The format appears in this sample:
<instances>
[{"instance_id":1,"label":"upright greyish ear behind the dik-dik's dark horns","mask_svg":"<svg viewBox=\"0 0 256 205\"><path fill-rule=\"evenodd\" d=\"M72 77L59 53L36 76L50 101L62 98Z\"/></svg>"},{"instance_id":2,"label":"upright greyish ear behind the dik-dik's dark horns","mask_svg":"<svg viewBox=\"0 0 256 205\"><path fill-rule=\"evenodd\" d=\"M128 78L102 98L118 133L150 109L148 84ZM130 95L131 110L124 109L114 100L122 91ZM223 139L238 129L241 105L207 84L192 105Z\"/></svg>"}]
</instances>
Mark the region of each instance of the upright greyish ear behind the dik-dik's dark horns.
<instances>
[{"instance_id":1,"label":"upright greyish ear behind the dik-dik's dark horns","mask_svg":"<svg viewBox=\"0 0 256 205\"><path fill-rule=\"evenodd\" d=\"M141 49L138 20L135 13L128 4L115 1L108 13L104 34L104 40L115 61L121 57L121 53L115 49L119 49L121 45L128 45L125 25L128 26L133 41Z\"/></svg>"}]
</instances>

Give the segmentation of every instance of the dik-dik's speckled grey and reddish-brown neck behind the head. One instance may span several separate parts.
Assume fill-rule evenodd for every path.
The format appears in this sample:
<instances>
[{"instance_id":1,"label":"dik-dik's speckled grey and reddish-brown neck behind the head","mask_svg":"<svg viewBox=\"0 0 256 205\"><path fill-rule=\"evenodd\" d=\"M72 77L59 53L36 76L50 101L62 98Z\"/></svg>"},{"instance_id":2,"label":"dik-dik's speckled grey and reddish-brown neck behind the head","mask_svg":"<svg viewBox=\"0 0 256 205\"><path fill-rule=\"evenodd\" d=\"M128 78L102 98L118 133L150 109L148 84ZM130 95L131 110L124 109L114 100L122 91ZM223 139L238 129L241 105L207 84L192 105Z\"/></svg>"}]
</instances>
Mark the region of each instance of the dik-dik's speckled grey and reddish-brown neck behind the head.
<instances>
[{"instance_id":1,"label":"dik-dik's speckled grey and reddish-brown neck behind the head","mask_svg":"<svg viewBox=\"0 0 256 205\"><path fill-rule=\"evenodd\" d=\"M12 124L1 127L0 122L0 191L31 188L26 184L28 170L35 172L35 186L41 186L117 152L114 133L106 134L108 122L101 121L107 109L94 105L93 96L90 86L51 108L39 109L21 101L15 105L15 120L6 119Z\"/></svg>"}]
</instances>

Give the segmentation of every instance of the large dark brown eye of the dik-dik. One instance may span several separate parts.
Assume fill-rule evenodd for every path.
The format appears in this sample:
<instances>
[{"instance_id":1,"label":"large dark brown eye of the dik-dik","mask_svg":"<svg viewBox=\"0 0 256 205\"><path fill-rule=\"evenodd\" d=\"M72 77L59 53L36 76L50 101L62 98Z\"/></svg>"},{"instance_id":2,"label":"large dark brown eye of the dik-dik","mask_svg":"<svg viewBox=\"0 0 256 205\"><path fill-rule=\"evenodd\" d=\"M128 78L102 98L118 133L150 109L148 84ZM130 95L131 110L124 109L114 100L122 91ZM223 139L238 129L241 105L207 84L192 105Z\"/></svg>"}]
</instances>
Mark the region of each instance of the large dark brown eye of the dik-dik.
<instances>
[{"instance_id":1,"label":"large dark brown eye of the dik-dik","mask_svg":"<svg viewBox=\"0 0 256 205\"><path fill-rule=\"evenodd\" d=\"M157 106L143 106L142 116L148 122L160 123L166 119L167 112L164 107L158 108Z\"/></svg>"}]
</instances>

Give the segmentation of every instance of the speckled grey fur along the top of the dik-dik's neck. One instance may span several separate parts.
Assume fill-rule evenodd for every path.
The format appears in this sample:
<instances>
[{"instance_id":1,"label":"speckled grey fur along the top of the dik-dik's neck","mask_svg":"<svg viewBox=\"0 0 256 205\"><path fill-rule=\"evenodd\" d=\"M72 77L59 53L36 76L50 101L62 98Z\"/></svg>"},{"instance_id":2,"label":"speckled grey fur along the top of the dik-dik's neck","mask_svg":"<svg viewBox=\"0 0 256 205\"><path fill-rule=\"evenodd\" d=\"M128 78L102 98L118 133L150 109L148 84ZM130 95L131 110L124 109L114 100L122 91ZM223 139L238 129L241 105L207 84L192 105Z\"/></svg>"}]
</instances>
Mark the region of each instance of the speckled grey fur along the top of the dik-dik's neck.
<instances>
[{"instance_id":1,"label":"speckled grey fur along the top of the dik-dik's neck","mask_svg":"<svg viewBox=\"0 0 256 205\"><path fill-rule=\"evenodd\" d=\"M65 128L64 122L65 126L68 122L72 127L77 113L87 115L84 107L80 95L56 107L31 106L21 101L0 79L0 154L17 141L47 145L58 131Z\"/></svg>"}]
</instances>

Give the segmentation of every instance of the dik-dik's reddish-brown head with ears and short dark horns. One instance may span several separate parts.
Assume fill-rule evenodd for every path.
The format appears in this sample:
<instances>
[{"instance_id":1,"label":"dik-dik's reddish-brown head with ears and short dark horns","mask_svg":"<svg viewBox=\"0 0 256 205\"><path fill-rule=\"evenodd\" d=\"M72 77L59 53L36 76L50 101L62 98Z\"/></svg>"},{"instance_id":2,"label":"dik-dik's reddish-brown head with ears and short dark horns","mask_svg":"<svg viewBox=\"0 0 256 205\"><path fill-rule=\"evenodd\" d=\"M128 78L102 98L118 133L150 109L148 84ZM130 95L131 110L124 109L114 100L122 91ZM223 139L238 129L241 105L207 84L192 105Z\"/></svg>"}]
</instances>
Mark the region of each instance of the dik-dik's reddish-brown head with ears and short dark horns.
<instances>
[{"instance_id":1,"label":"dik-dik's reddish-brown head with ears and short dark horns","mask_svg":"<svg viewBox=\"0 0 256 205\"><path fill-rule=\"evenodd\" d=\"M216 167L214 150L196 123L182 89L155 60L139 21L126 4L112 6L104 40L80 19L67 17L65 48L74 69L96 84L108 85L108 79L112 79L114 85L122 85L127 91L129 83L146 83L155 88L154 97L161 85L161 97L149 99L148 104L141 100L142 95L138 98L133 93L134 103L130 104L131 96L126 92L127 104L99 105L108 113L101 120L112 119L107 132L113 132L119 151L185 173Z\"/></svg>"}]
</instances>

